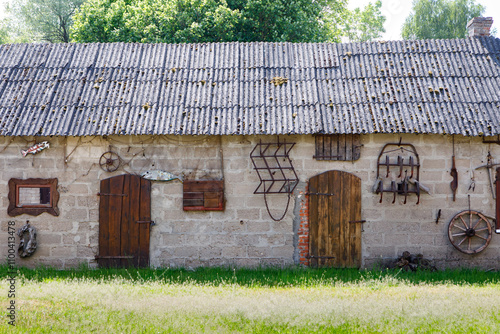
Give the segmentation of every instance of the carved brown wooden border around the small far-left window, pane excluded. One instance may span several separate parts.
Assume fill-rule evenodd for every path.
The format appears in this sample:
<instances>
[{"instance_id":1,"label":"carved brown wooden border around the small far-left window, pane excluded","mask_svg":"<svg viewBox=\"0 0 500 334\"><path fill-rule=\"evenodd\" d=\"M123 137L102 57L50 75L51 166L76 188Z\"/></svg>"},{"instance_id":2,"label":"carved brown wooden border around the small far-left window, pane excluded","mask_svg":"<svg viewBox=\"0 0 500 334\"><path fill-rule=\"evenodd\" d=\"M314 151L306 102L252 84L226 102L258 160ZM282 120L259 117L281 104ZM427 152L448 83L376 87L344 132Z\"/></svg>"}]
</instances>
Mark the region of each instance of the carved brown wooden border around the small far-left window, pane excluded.
<instances>
[{"instance_id":1,"label":"carved brown wooden border around the small far-left window, pane excluded","mask_svg":"<svg viewBox=\"0 0 500 334\"><path fill-rule=\"evenodd\" d=\"M49 188L50 200L48 204L39 205L19 205L19 189L21 188ZM53 216L59 216L59 192L57 191L57 179L10 179L9 180L9 216L19 216L27 214L38 216L47 212Z\"/></svg>"}]
</instances>

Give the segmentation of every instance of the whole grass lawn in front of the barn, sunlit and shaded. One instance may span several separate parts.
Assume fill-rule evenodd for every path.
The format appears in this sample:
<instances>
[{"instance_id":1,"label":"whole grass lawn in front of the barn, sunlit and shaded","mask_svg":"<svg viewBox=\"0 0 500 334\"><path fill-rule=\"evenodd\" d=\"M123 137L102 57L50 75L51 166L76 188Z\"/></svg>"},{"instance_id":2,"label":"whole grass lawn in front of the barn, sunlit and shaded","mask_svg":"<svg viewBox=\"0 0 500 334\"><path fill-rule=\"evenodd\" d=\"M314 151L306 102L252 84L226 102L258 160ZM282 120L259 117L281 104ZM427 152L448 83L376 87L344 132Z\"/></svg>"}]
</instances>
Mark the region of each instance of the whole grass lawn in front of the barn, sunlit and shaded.
<instances>
[{"instance_id":1,"label":"whole grass lawn in front of the barn, sunlit and shaded","mask_svg":"<svg viewBox=\"0 0 500 334\"><path fill-rule=\"evenodd\" d=\"M8 289L3 266L3 312ZM500 332L500 274L474 270L20 269L15 301L1 333Z\"/></svg>"}]
</instances>

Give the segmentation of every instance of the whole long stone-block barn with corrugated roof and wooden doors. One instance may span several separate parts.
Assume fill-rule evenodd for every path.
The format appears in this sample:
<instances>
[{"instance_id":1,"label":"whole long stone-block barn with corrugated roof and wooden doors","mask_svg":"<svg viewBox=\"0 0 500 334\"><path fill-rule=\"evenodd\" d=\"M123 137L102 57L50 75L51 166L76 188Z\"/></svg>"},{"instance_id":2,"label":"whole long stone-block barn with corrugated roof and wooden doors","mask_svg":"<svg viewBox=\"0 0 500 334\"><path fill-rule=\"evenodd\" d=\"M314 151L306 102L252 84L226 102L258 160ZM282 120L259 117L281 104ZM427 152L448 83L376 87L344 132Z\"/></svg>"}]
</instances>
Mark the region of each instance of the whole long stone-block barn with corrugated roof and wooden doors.
<instances>
[{"instance_id":1,"label":"whole long stone-block barn with corrugated roof and wooden doors","mask_svg":"<svg viewBox=\"0 0 500 334\"><path fill-rule=\"evenodd\" d=\"M16 265L500 269L498 38L1 45L0 78Z\"/></svg>"}]
</instances>

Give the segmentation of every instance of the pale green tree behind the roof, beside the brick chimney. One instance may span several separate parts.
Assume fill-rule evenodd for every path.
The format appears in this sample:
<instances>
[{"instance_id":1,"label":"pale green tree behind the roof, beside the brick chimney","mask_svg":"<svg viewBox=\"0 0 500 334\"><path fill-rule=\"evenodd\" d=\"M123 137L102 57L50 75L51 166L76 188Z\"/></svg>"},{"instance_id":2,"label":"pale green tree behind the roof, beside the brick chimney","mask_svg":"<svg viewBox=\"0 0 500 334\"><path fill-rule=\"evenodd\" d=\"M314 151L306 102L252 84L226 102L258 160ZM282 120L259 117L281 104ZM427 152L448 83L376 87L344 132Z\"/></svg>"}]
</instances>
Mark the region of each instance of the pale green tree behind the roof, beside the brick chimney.
<instances>
[{"instance_id":1,"label":"pale green tree behind the roof, beside the brick chimney","mask_svg":"<svg viewBox=\"0 0 500 334\"><path fill-rule=\"evenodd\" d=\"M467 22L483 12L475 0L414 0L401 35L404 39L465 38Z\"/></svg>"}]
</instances>

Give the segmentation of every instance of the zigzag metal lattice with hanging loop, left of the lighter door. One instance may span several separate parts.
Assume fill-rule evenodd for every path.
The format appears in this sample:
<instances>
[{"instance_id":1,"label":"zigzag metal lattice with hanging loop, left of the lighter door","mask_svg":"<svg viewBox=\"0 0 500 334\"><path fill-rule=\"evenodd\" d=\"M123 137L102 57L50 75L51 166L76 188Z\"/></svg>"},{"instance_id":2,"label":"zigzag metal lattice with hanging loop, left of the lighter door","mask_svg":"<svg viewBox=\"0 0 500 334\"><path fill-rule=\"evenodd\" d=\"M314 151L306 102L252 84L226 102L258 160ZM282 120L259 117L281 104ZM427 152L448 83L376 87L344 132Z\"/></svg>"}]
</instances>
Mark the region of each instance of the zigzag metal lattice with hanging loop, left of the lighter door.
<instances>
[{"instance_id":1,"label":"zigzag metal lattice with hanging loop, left of the lighter door","mask_svg":"<svg viewBox=\"0 0 500 334\"><path fill-rule=\"evenodd\" d=\"M284 218L290 204L290 196L299 182L290 159L290 151L294 146L295 143L287 143L286 140L280 142L278 137L275 143L260 141L250 153L250 159L260 180L254 194L264 194L267 211L275 221ZM275 219L269 211L266 197L268 194L288 194L285 213L279 219Z\"/></svg>"}]
</instances>

